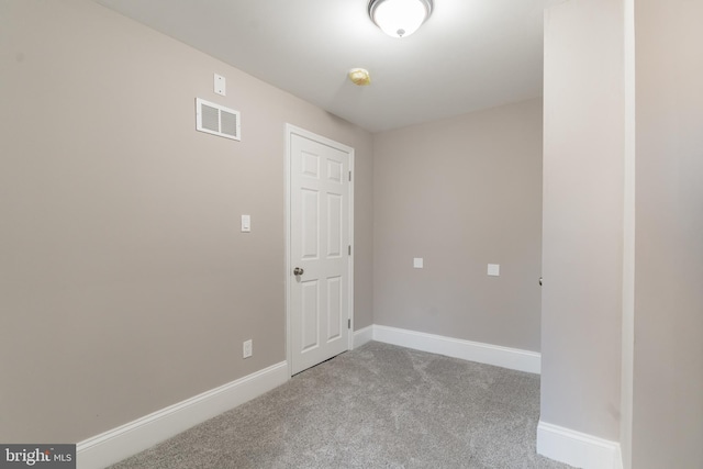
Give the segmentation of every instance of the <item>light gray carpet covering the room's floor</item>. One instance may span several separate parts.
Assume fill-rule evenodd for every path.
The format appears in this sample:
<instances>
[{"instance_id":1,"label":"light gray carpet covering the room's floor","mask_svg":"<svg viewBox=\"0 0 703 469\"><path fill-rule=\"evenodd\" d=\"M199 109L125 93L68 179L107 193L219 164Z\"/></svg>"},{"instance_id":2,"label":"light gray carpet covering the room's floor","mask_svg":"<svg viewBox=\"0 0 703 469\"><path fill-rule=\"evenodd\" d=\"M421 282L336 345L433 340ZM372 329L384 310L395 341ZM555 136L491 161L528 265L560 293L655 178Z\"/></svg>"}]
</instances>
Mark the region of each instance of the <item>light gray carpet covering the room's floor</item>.
<instances>
[{"instance_id":1,"label":"light gray carpet covering the room's floor","mask_svg":"<svg viewBox=\"0 0 703 469\"><path fill-rule=\"evenodd\" d=\"M123 468L545 468L539 377L371 342Z\"/></svg>"}]
</instances>

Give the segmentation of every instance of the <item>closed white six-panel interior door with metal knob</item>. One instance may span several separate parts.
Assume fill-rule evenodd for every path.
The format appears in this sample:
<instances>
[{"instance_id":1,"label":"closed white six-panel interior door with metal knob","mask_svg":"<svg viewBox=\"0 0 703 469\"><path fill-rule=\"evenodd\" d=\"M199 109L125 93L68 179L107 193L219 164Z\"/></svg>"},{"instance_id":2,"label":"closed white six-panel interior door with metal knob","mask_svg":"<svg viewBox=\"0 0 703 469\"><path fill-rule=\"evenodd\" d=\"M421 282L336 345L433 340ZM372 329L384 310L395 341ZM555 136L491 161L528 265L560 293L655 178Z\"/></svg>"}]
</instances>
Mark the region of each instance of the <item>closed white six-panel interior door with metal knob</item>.
<instances>
[{"instance_id":1,"label":"closed white six-panel interior door with metal knob","mask_svg":"<svg viewBox=\"0 0 703 469\"><path fill-rule=\"evenodd\" d=\"M349 348L353 149L289 127L291 373Z\"/></svg>"}]
</instances>

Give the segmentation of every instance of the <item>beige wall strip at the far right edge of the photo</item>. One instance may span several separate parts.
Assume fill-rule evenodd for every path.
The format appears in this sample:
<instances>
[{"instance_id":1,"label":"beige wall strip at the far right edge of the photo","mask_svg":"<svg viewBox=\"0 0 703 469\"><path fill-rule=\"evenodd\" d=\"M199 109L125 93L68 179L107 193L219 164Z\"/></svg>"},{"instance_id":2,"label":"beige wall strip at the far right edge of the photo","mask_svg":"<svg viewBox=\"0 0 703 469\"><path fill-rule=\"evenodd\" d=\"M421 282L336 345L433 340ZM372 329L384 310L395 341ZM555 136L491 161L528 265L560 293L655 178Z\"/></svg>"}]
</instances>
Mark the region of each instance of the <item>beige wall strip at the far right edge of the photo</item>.
<instances>
[{"instance_id":1,"label":"beige wall strip at the far right edge of the photo","mask_svg":"<svg viewBox=\"0 0 703 469\"><path fill-rule=\"evenodd\" d=\"M703 467L703 3L635 2L633 467Z\"/></svg>"}]
</instances>

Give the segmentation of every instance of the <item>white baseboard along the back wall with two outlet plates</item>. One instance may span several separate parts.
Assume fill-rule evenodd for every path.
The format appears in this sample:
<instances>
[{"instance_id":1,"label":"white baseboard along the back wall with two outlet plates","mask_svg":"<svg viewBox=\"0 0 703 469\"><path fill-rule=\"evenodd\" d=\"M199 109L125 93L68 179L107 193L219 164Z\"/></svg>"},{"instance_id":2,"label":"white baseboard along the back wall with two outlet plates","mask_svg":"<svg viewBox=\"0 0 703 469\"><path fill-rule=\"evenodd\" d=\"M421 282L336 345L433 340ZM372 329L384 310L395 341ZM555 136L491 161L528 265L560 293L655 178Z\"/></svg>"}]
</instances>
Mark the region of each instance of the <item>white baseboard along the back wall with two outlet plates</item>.
<instances>
[{"instance_id":1,"label":"white baseboard along the back wall with two outlet plates","mask_svg":"<svg viewBox=\"0 0 703 469\"><path fill-rule=\"evenodd\" d=\"M397 327L379 325L373 325L372 327L373 340L518 371L537 375L542 371L542 354L536 351L481 344Z\"/></svg>"}]
</instances>

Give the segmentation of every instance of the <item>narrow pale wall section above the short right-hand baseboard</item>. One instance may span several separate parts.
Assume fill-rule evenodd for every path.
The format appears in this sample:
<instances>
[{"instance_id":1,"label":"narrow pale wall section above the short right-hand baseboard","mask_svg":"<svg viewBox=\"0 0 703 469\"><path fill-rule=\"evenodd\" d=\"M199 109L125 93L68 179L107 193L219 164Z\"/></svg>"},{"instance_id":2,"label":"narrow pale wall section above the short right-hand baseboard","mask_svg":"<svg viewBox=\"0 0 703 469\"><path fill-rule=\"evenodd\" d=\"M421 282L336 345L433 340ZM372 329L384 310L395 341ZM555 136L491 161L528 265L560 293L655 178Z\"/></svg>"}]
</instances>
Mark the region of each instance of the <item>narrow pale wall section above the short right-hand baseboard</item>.
<instances>
[{"instance_id":1,"label":"narrow pale wall section above the short right-hand baseboard","mask_svg":"<svg viewBox=\"0 0 703 469\"><path fill-rule=\"evenodd\" d=\"M542 420L618 440L624 182L621 0L547 10Z\"/></svg>"}]
</instances>

